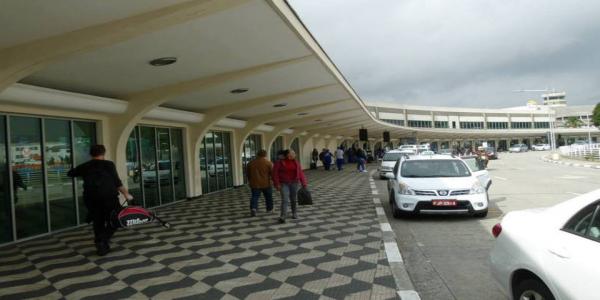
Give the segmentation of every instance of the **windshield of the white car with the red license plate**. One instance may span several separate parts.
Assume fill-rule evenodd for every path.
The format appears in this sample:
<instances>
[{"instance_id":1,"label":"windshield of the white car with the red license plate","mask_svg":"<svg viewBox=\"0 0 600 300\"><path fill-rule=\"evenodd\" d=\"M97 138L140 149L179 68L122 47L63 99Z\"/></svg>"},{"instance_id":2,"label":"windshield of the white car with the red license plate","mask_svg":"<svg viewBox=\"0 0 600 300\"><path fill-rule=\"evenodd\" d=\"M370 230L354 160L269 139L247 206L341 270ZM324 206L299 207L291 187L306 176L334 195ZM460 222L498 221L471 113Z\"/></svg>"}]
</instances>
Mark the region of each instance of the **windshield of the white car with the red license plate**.
<instances>
[{"instance_id":1,"label":"windshield of the white car with the red license plate","mask_svg":"<svg viewBox=\"0 0 600 300\"><path fill-rule=\"evenodd\" d=\"M468 177L469 168L460 160L413 160L402 164L402 177Z\"/></svg>"}]
</instances>

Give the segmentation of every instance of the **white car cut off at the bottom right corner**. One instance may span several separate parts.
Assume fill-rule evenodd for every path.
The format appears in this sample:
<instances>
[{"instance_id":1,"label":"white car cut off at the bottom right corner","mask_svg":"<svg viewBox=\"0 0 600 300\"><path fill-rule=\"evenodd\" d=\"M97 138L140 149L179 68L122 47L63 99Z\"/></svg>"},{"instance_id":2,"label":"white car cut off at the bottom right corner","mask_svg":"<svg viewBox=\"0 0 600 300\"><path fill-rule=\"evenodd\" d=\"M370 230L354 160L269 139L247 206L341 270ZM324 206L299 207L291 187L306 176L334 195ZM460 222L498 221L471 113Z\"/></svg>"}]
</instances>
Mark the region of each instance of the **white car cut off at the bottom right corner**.
<instances>
[{"instance_id":1,"label":"white car cut off at the bottom right corner","mask_svg":"<svg viewBox=\"0 0 600 300\"><path fill-rule=\"evenodd\" d=\"M600 190L508 213L492 229L492 272L511 299L600 299Z\"/></svg>"}]
</instances>

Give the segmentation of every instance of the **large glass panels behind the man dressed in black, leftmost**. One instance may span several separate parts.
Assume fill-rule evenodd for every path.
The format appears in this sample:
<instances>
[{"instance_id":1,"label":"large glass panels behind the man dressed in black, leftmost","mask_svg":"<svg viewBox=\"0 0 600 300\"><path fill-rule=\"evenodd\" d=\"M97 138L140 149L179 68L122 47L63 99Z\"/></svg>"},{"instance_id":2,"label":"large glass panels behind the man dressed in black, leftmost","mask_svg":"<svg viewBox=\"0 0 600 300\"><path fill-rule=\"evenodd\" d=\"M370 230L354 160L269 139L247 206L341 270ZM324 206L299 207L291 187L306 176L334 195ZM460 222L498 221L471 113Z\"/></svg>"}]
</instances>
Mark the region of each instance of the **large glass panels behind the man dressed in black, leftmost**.
<instances>
[{"instance_id":1,"label":"large glass panels behind the man dressed in black, leftmost","mask_svg":"<svg viewBox=\"0 0 600 300\"><path fill-rule=\"evenodd\" d=\"M93 122L0 116L0 243L84 223L82 188L67 172L95 143Z\"/></svg>"}]
</instances>

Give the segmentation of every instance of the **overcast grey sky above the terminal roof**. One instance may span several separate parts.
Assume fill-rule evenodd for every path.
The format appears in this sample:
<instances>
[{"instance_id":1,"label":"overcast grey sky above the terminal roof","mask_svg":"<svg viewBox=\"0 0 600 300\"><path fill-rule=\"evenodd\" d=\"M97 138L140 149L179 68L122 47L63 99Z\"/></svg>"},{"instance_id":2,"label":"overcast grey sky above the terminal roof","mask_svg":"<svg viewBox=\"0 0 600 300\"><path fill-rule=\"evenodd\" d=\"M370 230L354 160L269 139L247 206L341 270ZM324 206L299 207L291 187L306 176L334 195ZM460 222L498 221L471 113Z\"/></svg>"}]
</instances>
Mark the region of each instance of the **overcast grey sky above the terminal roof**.
<instances>
[{"instance_id":1,"label":"overcast grey sky above the terminal roof","mask_svg":"<svg viewBox=\"0 0 600 300\"><path fill-rule=\"evenodd\" d=\"M365 101L600 101L598 0L288 0Z\"/></svg>"}]
</instances>

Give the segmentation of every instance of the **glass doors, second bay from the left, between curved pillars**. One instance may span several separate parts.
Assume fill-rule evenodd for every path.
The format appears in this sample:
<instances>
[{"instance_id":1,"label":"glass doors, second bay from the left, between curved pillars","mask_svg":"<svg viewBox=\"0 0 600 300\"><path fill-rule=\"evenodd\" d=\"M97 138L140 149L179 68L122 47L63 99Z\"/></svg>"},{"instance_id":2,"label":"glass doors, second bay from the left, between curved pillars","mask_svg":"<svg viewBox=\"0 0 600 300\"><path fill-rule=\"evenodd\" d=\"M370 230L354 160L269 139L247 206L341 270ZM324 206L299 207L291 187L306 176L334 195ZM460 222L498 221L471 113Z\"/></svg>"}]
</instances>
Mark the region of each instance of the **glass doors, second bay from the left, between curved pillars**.
<instances>
[{"instance_id":1,"label":"glass doors, second bay from the left, between curved pillars","mask_svg":"<svg viewBox=\"0 0 600 300\"><path fill-rule=\"evenodd\" d=\"M125 151L127 183L135 204L153 207L186 197L181 129L137 126Z\"/></svg>"}]
</instances>

